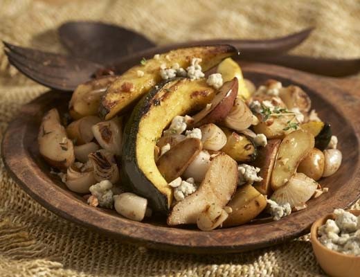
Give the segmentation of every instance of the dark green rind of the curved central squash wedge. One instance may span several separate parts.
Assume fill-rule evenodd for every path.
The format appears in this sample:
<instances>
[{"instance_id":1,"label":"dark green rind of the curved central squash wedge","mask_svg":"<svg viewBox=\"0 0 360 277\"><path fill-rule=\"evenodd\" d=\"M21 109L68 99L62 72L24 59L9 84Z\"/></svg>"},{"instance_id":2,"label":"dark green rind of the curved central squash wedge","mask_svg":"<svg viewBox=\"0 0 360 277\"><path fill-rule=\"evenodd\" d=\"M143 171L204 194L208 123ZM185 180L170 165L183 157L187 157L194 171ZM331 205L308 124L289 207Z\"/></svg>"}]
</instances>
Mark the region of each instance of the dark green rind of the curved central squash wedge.
<instances>
[{"instance_id":1,"label":"dark green rind of the curved central squash wedge","mask_svg":"<svg viewBox=\"0 0 360 277\"><path fill-rule=\"evenodd\" d=\"M151 99L163 86L165 86L165 84L179 79L181 78L173 78L161 82L156 86L157 88L154 87L149 93L143 96L136 107L134 107L129 120L127 120L123 134L123 156L121 158L122 168L120 172L121 181L131 188L134 193L145 197L150 202L150 206L154 211L160 211L165 214L169 212L166 195L163 195L156 186L147 179L140 168L138 168L136 159L136 136L138 134L138 123L141 118L149 111L152 105L156 105L156 103L152 103Z\"/></svg>"}]
</instances>

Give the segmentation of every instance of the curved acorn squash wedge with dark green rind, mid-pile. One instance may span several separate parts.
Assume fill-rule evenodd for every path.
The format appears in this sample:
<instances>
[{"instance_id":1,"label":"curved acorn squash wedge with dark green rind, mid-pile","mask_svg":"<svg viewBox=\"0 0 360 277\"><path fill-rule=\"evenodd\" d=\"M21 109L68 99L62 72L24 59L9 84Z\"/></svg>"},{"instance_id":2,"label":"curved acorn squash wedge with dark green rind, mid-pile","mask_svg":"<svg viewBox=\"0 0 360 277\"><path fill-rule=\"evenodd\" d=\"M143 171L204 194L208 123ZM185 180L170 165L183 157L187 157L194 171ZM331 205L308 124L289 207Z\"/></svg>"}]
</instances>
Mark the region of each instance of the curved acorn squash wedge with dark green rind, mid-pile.
<instances>
[{"instance_id":1,"label":"curved acorn squash wedge with dark green rind, mid-pile","mask_svg":"<svg viewBox=\"0 0 360 277\"><path fill-rule=\"evenodd\" d=\"M168 213L172 188L156 167L154 148L174 116L204 108L215 96L206 80L176 78L154 87L134 108L124 131L123 182Z\"/></svg>"}]
</instances>

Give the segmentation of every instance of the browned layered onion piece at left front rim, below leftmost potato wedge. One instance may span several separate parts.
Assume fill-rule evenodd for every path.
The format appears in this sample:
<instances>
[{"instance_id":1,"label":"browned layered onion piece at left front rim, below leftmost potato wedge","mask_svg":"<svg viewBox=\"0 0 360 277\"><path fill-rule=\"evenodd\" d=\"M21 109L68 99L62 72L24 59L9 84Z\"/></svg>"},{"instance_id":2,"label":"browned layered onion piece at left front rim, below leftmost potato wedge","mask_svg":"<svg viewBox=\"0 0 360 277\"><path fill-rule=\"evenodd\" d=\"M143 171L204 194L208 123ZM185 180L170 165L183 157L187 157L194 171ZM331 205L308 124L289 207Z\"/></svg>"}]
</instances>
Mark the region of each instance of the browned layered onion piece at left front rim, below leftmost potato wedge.
<instances>
[{"instance_id":1,"label":"browned layered onion piece at left front rim, below leftmost potato wedge","mask_svg":"<svg viewBox=\"0 0 360 277\"><path fill-rule=\"evenodd\" d=\"M72 165L66 172L66 186L75 193L89 193L89 188L96 184L93 169L80 172L79 168Z\"/></svg>"}]
</instances>

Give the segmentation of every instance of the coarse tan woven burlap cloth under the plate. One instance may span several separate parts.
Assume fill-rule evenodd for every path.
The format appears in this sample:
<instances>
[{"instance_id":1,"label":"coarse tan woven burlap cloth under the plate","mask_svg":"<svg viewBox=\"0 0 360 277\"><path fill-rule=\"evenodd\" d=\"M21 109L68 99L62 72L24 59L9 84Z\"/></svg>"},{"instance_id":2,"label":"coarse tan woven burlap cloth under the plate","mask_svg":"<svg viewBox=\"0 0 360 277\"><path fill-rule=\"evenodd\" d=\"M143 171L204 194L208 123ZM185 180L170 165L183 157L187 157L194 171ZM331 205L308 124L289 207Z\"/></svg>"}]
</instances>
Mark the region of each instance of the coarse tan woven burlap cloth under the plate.
<instances>
[{"instance_id":1,"label":"coarse tan woven burlap cloth under the plate","mask_svg":"<svg viewBox=\"0 0 360 277\"><path fill-rule=\"evenodd\" d=\"M158 44L273 37L316 26L295 53L356 57L359 15L359 0L0 0L0 39L64 53L55 30L69 19L112 22ZM10 68L1 47L0 139L17 109L46 91ZM277 247L222 256L138 249L46 211L10 179L3 163L0 170L0 276L325 276L308 235Z\"/></svg>"}]
</instances>

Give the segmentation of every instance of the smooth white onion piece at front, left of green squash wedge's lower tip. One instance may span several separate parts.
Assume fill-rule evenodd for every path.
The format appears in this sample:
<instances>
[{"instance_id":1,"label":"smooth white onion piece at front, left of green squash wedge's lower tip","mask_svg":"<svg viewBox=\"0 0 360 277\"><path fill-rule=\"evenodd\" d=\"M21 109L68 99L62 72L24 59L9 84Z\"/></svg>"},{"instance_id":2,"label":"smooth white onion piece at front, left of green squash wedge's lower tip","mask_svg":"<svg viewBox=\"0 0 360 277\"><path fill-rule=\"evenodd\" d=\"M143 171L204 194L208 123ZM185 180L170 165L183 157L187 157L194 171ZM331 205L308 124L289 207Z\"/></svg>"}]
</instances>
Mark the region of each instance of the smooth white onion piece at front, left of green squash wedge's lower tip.
<instances>
[{"instance_id":1,"label":"smooth white onion piece at front, left of green squash wedge's lower tip","mask_svg":"<svg viewBox=\"0 0 360 277\"><path fill-rule=\"evenodd\" d=\"M147 199L134 193L122 193L114 196L114 207L129 220L141 221L147 211Z\"/></svg>"}]
</instances>

